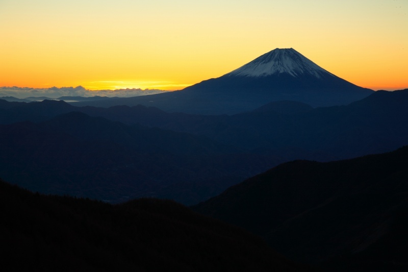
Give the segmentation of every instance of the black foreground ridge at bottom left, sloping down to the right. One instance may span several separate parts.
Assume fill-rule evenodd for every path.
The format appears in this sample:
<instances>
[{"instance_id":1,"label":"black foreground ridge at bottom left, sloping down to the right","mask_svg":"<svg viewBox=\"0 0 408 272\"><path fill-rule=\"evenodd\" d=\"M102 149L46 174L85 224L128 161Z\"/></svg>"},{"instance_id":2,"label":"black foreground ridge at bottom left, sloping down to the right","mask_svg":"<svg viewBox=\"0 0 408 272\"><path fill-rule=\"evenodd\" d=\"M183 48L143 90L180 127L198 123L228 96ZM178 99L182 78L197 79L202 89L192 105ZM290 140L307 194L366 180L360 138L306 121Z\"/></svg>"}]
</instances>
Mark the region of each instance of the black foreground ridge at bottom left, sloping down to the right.
<instances>
[{"instance_id":1,"label":"black foreground ridge at bottom left, sloping down to the right","mask_svg":"<svg viewBox=\"0 0 408 272\"><path fill-rule=\"evenodd\" d=\"M2 271L306 271L173 201L110 205L0 180Z\"/></svg>"}]
</instances>

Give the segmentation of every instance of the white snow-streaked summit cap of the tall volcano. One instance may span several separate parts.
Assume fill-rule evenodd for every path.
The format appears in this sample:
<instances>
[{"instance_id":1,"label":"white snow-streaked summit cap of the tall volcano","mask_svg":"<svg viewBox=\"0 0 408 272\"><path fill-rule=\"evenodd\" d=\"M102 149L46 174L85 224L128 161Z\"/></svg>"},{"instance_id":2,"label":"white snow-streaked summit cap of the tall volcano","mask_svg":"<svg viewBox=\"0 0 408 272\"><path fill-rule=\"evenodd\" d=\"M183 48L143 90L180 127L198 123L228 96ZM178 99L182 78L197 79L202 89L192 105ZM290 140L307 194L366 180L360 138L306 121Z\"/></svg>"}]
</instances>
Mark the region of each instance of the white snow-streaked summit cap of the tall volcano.
<instances>
[{"instance_id":1,"label":"white snow-streaked summit cap of the tall volcano","mask_svg":"<svg viewBox=\"0 0 408 272\"><path fill-rule=\"evenodd\" d=\"M293 77L309 74L317 78L330 72L304 57L293 48L276 48L225 76L265 77L277 73L288 73Z\"/></svg>"}]
</instances>

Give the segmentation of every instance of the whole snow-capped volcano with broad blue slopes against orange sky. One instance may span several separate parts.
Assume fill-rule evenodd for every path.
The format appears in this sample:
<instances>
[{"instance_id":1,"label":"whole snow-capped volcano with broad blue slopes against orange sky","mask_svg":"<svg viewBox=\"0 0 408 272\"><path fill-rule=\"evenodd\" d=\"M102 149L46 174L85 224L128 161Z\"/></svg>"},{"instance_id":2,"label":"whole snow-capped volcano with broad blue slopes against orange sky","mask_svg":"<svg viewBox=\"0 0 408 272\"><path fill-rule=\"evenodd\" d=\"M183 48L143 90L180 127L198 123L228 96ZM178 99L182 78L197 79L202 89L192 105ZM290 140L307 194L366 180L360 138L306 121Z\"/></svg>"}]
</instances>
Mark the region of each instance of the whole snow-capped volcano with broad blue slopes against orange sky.
<instances>
[{"instance_id":1,"label":"whole snow-capped volcano with broad blue slopes against orange sky","mask_svg":"<svg viewBox=\"0 0 408 272\"><path fill-rule=\"evenodd\" d=\"M235 114L272 101L296 101L313 107L347 105L371 93L373 90L333 75L293 48L276 48L222 77L180 91L118 98L91 106L141 104L170 112Z\"/></svg>"}]
</instances>

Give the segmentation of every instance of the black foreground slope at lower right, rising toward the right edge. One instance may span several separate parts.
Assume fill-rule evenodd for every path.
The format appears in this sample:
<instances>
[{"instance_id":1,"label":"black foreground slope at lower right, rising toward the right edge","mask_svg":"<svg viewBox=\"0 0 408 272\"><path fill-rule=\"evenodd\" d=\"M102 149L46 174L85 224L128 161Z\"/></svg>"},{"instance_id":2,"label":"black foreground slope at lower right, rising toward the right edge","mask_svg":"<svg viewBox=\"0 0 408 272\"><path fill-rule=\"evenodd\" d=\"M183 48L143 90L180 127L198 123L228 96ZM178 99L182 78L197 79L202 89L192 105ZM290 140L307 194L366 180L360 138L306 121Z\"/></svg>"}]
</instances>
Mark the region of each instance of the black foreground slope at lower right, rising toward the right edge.
<instances>
[{"instance_id":1,"label":"black foreground slope at lower right, rising toward the right edge","mask_svg":"<svg viewBox=\"0 0 408 272\"><path fill-rule=\"evenodd\" d=\"M345 161L293 161L193 207L327 271L406 271L408 146Z\"/></svg>"}]
</instances>

